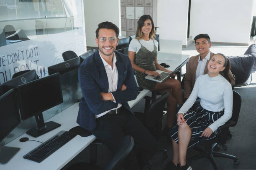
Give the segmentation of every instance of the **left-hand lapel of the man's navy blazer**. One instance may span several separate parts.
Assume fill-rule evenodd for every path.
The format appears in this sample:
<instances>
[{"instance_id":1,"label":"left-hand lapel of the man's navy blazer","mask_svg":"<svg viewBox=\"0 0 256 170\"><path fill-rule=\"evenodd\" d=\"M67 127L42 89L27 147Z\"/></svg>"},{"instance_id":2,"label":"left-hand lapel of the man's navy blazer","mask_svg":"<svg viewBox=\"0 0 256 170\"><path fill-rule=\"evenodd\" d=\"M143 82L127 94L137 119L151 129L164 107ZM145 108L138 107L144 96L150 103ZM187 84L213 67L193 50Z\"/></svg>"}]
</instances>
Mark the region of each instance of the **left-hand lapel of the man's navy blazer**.
<instances>
[{"instance_id":1,"label":"left-hand lapel of the man's navy blazer","mask_svg":"<svg viewBox=\"0 0 256 170\"><path fill-rule=\"evenodd\" d=\"M108 76L107 76L105 67L103 65L103 62L100 58L100 53L97 50L94 54L95 54L94 59L95 59L96 65L97 65L97 70L99 70L99 74L100 74L100 79L102 79L102 81L104 83L103 86L104 86L105 92L108 92Z\"/></svg>"}]
</instances>

